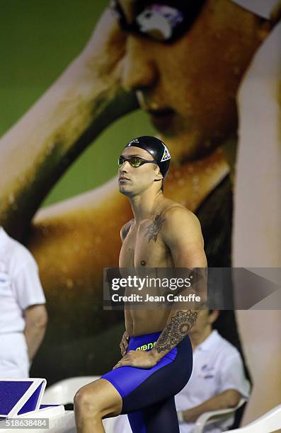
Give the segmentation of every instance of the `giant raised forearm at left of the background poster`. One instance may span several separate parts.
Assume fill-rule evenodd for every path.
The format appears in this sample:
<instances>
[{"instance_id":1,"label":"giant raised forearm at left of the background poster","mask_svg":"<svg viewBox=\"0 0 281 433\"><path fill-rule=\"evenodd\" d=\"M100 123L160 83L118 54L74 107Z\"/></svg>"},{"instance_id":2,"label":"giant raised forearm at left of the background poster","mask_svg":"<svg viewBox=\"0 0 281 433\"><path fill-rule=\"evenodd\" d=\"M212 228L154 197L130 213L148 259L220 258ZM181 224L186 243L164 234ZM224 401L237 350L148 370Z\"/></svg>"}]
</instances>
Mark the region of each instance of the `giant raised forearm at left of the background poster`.
<instances>
[{"instance_id":1,"label":"giant raised forearm at left of the background poster","mask_svg":"<svg viewBox=\"0 0 281 433\"><path fill-rule=\"evenodd\" d=\"M88 44L0 141L1 214L21 239L42 200L74 159L117 117L136 108L121 91L125 34L106 10Z\"/></svg>"}]
</instances>

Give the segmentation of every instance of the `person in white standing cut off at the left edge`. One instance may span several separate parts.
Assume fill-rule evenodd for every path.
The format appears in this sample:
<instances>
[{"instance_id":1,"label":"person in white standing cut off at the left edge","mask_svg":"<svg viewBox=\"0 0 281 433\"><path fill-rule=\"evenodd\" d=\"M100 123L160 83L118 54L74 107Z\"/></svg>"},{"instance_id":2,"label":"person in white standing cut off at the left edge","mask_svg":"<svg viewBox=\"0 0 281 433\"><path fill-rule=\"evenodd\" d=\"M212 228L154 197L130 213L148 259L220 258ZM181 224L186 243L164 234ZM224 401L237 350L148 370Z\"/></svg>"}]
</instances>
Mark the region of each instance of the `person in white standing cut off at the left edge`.
<instances>
[{"instance_id":1,"label":"person in white standing cut off at the left edge","mask_svg":"<svg viewBox=\"0 0 281 433\"><path fill-rule=\"evenodd\" d=\"M45 335L38 265L0 226L0 379L24 378Z\"/></svg>"}]
</instances>

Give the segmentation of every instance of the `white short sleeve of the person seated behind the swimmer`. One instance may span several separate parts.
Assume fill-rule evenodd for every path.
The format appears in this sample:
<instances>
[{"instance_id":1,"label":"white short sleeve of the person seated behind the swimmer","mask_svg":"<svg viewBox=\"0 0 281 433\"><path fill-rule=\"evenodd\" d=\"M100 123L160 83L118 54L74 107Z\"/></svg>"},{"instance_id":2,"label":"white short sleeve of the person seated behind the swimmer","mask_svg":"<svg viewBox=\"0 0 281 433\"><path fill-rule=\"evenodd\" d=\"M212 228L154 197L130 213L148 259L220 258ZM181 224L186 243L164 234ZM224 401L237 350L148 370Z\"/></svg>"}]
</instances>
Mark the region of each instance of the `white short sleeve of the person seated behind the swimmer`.
<instances>
[{"instance_id":1,"label":"white short sleeve of the person seated behind the swimmer","mask_svg":"<svg viewBox=\"0 0 281 433\"><path fill-rule=\"evenodd\" d=\"M220 376L219 393L227 389L236 389L243 397L248 398L250 384L246 379L243 362L238 352L224 358Z\"/></svg>"}]
</instances>

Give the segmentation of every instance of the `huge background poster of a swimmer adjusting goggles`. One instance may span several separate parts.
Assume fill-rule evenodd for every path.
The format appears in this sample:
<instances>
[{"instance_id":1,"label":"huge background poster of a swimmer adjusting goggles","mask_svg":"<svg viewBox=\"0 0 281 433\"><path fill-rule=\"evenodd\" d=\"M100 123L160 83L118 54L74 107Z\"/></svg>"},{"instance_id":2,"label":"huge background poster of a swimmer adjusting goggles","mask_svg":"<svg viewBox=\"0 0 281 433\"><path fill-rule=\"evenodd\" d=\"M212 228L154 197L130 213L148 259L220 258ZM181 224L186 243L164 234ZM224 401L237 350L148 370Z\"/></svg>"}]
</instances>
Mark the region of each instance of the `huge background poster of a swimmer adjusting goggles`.
<instances>
[{"instance_id":1,"label":"huge background poster of a swimmer adjusting goggles","mask_svg":"<svg viewBox=\"0 0 281 433\"><path fill-rule=\"evenodd\" d=\"M121 3L129 21L151 5ZM120 357L124 323L122 313L103 311L103 268L117 267L120 228L132 218L115 176L117 157L133 137L153 134L167 144L172 165L164 193L200 219L209 266L280 266L276 218L268 237L268 249L274 251L271 262L263 263L260 255L261 262L255 263L251 253L251 263L237 259L242 251L248 258L241 240L255 226L250 212L241 236L239 221L245 222L248 205L241 191L243 185L255 189L251 161L258 164L258 158L248 156L245 169L240 160L237 183L237 144L242 132L245 137L245 125L252 147L262 137L262 122L270 131L278 129L271 110L262 121L255 114L266 113L269 99L277 96L275 69L265 69L260 76L254 69L251 75L277 19L261 18L231 0L207 0L192 7L185 1L163 4L170 7L163 10L164 28L154 28L152 10L140 25L147 28L146 35L121 30L116 11L115 16L103 13L107 1L1 4L0 224L28 246L40 268L50 321L30 374L44 376L48 383L103 374ZM181 11L182 21L175 10ZM172 35L178 22L182 27L177 37L159 41L162 30ZM263 84L265 90L270 86L270 98L263 98L266 92L258 98L255 92L247 94L247 80ZM245 95L252 102L248 111ZM276 104L275 113L278 110ZM273 185L281 166L279 136L267 137L273 161L263 163L268 172L259 182L269 185L264 190L272 194L262 199L256 194L256 207L277 193ZM262 147L263 142L258 143L252 154L259 155ZM235 191L240 198L234 209ZM267 214L278 215L270 206L268 202ZM235 260L234 211L239 219ZM258 226L255 230L262 239ZM252 230L251 239L256 232ZM265 245L263 240L260 244ZM226 290L232 292L231 282ZM258 318L255 323L260 323ZM277 333L271 331L275 340ZM221 332L240 347L233 311L222 314ZM246 338L243 344L245 350Z\"/></svg>"}]
</instances>

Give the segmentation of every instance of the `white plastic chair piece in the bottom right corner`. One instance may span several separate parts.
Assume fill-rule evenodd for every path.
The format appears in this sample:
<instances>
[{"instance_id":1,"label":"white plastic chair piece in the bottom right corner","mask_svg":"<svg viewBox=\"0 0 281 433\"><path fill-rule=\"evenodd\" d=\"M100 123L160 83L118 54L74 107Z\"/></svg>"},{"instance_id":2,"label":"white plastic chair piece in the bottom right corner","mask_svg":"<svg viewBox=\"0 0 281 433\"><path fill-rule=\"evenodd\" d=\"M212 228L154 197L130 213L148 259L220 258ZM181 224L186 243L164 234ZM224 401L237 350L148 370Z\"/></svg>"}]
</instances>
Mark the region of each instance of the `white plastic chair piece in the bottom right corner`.
<instances>
[{"instance_id":1,"label":"white plastic chair piece in the bottom right corner","mask_svg":"<svg viewBox=\"0 0 281 433\"><path fill-rule=\"evenodd\" d=\"M266 412L265 415L241 427L240 429L229 430L229 432L239 433L270 433L281 428L281 405ZM227 432L227 433L229 433Z\"/></svg>"}]
</instances>

